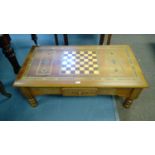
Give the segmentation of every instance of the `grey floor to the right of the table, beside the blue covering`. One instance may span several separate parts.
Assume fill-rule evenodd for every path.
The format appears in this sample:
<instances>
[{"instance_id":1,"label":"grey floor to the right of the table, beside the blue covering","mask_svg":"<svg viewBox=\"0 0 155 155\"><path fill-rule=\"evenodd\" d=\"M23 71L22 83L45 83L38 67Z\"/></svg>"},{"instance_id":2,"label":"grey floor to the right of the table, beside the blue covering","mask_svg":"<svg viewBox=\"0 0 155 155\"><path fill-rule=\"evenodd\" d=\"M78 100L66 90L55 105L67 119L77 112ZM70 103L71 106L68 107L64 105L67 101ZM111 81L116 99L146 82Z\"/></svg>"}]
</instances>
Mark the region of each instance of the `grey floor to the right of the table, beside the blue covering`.
<instances>
[{"instance_id":1,"label":"grey floor to the right of the table, beside the blue covering","mask_svg":"<svg viewBox=\"0 0 155 155\"><path fill-rule=\"evenodd\" d=\"M155 120L155 35L119 35L112 37L112 44L128 44L149 82L149 88L145 89L133 102L130 109L124 109L122 99L117 99L117 108L120 120L124 121L154 121Z\"/></svg>"}]
</instances>

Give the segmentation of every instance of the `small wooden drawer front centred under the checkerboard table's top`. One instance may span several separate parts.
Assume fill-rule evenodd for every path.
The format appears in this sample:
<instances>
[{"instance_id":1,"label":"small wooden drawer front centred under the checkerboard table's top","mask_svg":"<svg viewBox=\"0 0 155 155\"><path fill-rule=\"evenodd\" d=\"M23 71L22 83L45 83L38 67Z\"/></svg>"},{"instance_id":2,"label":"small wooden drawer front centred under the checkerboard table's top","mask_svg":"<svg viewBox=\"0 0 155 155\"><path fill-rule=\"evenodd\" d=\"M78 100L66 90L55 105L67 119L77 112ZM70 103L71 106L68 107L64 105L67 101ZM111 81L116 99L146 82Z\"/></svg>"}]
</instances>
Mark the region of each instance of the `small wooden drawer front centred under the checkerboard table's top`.
<instances>
[{"instance_id":1,"label":"small wooden drawer front centred under the checkerboard table's top","mask_svg":"<svg viewBox=\"0 0 155 155\"><path fill-rule=\"evenodd\" d=\"M64 96L96 96L97 88L62 88Z\"/></svg>"}]
</instances>

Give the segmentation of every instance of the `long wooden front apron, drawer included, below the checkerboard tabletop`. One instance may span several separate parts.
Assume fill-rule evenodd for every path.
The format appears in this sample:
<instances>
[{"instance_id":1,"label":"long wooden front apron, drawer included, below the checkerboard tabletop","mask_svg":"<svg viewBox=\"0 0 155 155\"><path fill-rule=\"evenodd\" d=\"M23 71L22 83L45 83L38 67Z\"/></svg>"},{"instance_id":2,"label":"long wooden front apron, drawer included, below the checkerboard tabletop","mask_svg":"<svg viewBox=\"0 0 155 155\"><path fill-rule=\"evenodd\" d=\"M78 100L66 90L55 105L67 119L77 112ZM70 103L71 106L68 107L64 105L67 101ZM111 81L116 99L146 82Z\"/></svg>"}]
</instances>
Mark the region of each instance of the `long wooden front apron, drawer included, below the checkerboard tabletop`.
<instances>
[{"instance_id":1,"label":"long wooden front apron, drawer included, below the checkerboard tabletop","mask_svg":"<svg viewBox=\"0 0 155 155\"><path fill-rule=\"evenodd\" d=\"M141 89L139 88L46 88L46 87L29 87L34 96L37 95L63 95L63 96L96 96L96 95L117 95L122 97L131 96L133 90L136 94L132 95L137 98Z\"/></svg>"}]
</instances>

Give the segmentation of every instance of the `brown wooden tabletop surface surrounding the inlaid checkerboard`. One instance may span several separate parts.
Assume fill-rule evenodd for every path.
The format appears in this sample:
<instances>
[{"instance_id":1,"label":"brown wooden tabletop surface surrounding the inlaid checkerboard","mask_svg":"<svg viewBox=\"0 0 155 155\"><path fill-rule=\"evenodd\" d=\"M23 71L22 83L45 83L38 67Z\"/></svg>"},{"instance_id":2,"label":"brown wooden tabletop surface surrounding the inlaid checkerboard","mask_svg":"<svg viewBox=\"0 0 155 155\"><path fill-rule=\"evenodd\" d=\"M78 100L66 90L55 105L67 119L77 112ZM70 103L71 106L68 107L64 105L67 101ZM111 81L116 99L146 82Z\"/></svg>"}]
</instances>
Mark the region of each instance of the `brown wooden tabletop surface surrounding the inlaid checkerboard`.
<instances>
[{"instance_id":1,"label":"brown wooden tabletop surface surrounding the inlaid checkerboard","mask_svg":"<svg viewBox=\"0 0 155 155\"><path fill-rule=\"evenodd\" d=\"M64 51L96 53L98 74L62 74ZM32 47L15 87L145 88L148 83L128 45Z\"/></svg>"}]
</instances>

